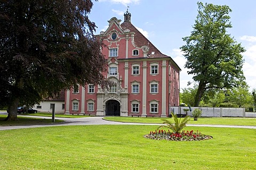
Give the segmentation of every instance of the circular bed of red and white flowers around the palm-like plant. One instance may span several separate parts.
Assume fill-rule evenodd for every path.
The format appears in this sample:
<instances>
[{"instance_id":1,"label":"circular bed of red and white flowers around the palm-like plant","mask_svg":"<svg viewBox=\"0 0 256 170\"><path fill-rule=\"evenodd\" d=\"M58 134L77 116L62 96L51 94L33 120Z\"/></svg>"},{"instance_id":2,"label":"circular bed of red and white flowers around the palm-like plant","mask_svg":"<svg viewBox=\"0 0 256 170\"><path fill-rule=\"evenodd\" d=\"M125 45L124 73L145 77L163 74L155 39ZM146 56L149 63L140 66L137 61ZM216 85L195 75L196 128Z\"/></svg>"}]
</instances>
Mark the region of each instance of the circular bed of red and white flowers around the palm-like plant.
<instances>
[{"instance_id":1,"label":"circular bed of red and white flowers around the palm-like plant","mask_svg":"<svg viewBox=\"0 0 256 170\"><path fill-rule=\"evenodd\" d=\"M174 141L193 141L212 139L210 135L202 134L201 132L182 131L181 133L174 133L165 130L150 131L150 134L145 135L146 138L157 140L174 140Z\"/></svg>"}]
</instances>

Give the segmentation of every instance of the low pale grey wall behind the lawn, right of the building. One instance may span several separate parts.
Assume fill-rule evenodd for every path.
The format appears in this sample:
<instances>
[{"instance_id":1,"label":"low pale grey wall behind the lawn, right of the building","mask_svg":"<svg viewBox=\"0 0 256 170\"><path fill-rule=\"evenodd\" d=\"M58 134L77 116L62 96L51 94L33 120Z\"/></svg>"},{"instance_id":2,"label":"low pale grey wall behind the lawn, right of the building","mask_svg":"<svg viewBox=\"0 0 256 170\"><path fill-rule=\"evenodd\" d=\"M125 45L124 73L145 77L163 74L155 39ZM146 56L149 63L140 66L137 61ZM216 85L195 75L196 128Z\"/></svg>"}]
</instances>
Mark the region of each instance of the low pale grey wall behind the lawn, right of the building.
<instances>
[{"instance_id":1,"label":"low pale grey wall behind the lawn, right of the building","mask_svg":"<svg viewBox=\"0 0 256 170\"><path fill-rule=\"evenodd\" d=\"M170 111L174 114L187 114L191 113L195 108L202 111L202 117L256 117L256 113L245 112L245 108L224 108L224 107L191 107L191 112L187 113L183 109L188 109L186 106L171 106Z\"/></svg>"}]
</instances>

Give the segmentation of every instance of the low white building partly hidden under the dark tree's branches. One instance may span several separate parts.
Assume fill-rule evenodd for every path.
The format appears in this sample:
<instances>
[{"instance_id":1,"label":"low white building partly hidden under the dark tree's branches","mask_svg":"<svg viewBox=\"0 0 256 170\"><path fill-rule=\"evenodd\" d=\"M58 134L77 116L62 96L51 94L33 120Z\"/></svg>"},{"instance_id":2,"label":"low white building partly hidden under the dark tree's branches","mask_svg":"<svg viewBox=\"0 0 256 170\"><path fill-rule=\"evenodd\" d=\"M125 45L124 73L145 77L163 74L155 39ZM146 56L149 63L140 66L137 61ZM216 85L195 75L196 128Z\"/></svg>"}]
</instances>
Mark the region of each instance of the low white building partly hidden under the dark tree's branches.
<instances>
[{"instance_id":1,"label":"low white building partly hidden under the dark tree's branches","mask_svg":"<svg viewBox=\"0 0 256 170\"><path fill-rule=\"evenodd\" d=\"M52 109L50 109L51 104L55 104L55 113L65 113L65 109L62 109L62 104L65 104L64 101L41 101L39 105L35 105L33 108L38 112L52 113ZM40 109L37 106L42 108Z\"/></svg>"}]
</instances>

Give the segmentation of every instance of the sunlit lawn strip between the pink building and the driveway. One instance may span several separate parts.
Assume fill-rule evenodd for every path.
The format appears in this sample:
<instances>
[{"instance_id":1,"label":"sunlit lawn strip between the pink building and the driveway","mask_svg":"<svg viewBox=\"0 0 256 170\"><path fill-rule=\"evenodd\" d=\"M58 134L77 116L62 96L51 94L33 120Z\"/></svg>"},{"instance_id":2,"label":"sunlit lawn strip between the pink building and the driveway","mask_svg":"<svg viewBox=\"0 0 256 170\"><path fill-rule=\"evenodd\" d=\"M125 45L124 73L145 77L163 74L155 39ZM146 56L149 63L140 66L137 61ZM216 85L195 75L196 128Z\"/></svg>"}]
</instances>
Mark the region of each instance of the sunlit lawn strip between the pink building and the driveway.
<instances>
[{"instance_id":1,"label":"sunlit lawn strip between the pink building and the driveway","mask_svg":"<svg viewBox=\"0 0 256 170\"><path fill-rule=\"evenodd\" d=\"M162 119L173 121L172 118L159 117L104 117L108 121L133 122L133 123L163 123ZM198 121L190 118L188 124L219 124L219 125L247 125L256 126L256 118L245 117L199 117Z\"/></svg>"}]
</instances>

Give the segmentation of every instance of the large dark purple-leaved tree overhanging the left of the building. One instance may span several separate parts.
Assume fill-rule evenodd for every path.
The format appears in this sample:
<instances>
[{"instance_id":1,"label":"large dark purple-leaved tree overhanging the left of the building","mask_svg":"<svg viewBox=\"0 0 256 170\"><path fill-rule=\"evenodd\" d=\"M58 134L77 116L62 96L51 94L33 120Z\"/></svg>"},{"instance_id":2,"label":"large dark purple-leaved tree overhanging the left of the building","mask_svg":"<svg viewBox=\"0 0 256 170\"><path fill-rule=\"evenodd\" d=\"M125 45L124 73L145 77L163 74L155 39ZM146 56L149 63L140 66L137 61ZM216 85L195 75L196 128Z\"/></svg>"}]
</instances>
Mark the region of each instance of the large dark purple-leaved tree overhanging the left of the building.
<instances>
[{"instance_id":1,"label":"large dark purple-leaved tree overhanging the left of the building","mask_svg":"<svg viewBox=\"0 0 256 170\"><path fill-rule=\"evenodd\" d=\"M90 0L6 0L0 4L0 105L17 120L34 105L74 84L100 84L102 44L88 18Z\"/></svg>"}]
</instances>

